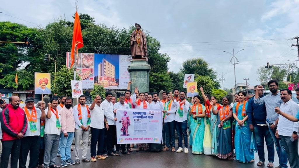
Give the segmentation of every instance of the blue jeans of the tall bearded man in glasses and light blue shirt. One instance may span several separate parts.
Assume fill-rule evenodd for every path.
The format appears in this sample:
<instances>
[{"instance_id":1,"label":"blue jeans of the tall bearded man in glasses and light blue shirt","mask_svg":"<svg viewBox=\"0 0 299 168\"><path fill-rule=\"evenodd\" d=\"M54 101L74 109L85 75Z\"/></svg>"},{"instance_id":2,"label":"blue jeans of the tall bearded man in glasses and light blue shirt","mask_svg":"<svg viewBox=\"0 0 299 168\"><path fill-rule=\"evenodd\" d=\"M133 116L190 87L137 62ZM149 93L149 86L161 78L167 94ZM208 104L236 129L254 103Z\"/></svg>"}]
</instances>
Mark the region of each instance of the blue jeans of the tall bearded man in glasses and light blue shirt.
<instances>
[{"instance_id":1,"label":"blue jeans of the tall bearded man in glasses and light blue shirt","mask_svg":"<svg viewBox=\"0 0 299 168\"><path fill-rule=\"evenodd\" d=\"M268 128L275 144L276 152L279 158L279 165L282 168L287 168L288 166L286 164L288 164L288 156L286 154L286 149L280 145L280 140L275 137L276 129L272 130L270 127Z\"/></svg>"}]
</instances>

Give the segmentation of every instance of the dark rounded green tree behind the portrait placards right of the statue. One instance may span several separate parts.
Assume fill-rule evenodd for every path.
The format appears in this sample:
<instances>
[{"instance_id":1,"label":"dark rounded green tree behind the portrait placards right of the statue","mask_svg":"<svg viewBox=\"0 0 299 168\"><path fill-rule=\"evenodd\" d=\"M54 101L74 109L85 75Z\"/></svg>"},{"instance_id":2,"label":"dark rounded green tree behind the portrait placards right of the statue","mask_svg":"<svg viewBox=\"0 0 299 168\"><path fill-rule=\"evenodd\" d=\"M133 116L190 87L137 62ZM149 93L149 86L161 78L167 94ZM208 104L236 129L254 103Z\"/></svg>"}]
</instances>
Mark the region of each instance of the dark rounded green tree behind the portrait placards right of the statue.
<instances>
[{"instance_id":1,"label":"dark rounded green tree behind the portrait placards right of the statue","mask_svg":"<svg viewBox=\"0 0 299 168\"><path fill-rule=\"evenodd\" d=\"M183 74L195 74L195 78L197 78L197 75L200 76L208 76L210 79L215 81L213 83L214 88L219 88L220 84L216 80L217 74L216 72L209 67L209 64L202 58L192 58L187 59L182 63L182 68L180 71Z\"/></svg>"}]
</instances>

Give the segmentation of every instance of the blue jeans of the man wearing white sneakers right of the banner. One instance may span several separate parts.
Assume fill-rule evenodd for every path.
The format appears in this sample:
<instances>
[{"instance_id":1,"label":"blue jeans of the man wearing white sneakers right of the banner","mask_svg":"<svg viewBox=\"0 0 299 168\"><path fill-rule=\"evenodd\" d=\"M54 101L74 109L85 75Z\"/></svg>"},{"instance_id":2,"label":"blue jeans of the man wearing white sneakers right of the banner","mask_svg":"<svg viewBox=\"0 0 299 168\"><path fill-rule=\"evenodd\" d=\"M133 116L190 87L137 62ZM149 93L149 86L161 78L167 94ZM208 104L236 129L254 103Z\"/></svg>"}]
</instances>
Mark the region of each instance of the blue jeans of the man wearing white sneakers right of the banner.
<instances>
[{"instance_id":1,"label":"blue jeans of the man wearing white sneakers right of the banner","mask_svg":"<svg viewBox=\"0 0 299 168\"><path fill-rule=\"evenodd\" d=\"M188 135L187 135L187 120L183 122L176 122L176 133L178 134L178 145L183 148L183 137L184 137L184 146L188 147Z\"/></svg>"}]
</instances>

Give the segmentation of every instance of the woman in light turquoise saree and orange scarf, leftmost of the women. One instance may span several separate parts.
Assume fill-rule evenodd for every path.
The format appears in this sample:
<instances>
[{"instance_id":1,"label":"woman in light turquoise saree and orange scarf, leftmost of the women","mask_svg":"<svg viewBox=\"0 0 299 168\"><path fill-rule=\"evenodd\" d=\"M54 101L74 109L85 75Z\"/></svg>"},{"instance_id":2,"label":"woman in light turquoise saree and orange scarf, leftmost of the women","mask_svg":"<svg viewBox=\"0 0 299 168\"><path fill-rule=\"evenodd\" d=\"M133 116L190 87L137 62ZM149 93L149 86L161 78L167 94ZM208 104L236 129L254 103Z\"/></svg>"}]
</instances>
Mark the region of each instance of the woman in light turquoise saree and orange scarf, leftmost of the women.
<instances>
[{"instance_id":1,"label":"woman in light turquoise saree and orange scarf, leftmost of the women","mask_svg":"<svg viewBox=\"0 0 299 168\"><path fill-rule=\"evenodd\" d=\"M200 104L200 97L197 95L193 98L194 104L190 107L190 130L192 135L192 153L202 154L203 140L204 140L204 117L205 117L205 106Z\"/></svg>"}]
</instances>

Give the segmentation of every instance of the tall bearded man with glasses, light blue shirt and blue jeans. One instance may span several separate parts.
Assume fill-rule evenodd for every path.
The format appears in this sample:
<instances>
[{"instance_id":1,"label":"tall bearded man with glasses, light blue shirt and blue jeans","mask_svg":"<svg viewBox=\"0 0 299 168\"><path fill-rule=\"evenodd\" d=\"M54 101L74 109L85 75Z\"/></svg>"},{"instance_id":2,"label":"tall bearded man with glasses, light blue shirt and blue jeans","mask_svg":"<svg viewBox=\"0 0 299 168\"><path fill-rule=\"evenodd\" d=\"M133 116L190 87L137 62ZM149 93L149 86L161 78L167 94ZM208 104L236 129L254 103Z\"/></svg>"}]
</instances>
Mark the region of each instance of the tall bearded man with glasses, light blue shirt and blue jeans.
<instances>
[{"instance_id":1,"label":"tall bearded man with glasses, light blue shirt and blue jeans","mask_svg":"<svg viewBox=\"0 0 299 168\"><path fill-rule=\"evenodd\" d=\"M269 90L271 94L268 94L262 98L259 97L259 91L263 89L263 86L257 86L257 91L255 92L254 96L254 103L262 105L266 105L266 112L267 112L267 119L266 122L269 124L269 131L274 141L276 152L279 158L279 166L278 168L286 168L288 163L288 158L286 154L286 149L284 146L280 145L279 139L275 137L277 124L278 124L278 116L274 111L275 107L279 107L282 103L279 90L278 90L278 81L277 80L270 80L268 82Z\"/></svg>"}]
</instances>

